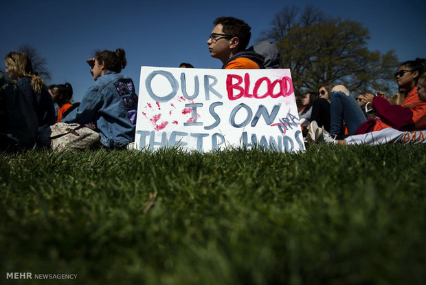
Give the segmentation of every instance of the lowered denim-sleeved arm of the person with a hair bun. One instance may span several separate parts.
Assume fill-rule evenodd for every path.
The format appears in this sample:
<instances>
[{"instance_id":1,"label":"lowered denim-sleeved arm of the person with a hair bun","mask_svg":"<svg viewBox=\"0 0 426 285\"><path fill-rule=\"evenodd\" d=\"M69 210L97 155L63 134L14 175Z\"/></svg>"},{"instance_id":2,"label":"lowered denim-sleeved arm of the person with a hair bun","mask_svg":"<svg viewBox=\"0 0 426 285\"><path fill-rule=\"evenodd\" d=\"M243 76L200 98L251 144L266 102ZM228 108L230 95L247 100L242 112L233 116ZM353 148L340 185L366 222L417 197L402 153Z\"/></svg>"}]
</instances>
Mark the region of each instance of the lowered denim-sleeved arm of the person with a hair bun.
<instances>
[{"instance_id":1,"label":"lowered denim-sleeved arm of the person with a hair bun","mask_svg":"<svg viewBox=\"0 0 426 285\"><path fill-rule=\"evenodd\" d=\"M96 120L96 116L102 104L102 94L95 85L83 96L80 106L67 114L67 117L63 118L62 121L64 123L91 123Z\"/></svg>"}]
</instances>

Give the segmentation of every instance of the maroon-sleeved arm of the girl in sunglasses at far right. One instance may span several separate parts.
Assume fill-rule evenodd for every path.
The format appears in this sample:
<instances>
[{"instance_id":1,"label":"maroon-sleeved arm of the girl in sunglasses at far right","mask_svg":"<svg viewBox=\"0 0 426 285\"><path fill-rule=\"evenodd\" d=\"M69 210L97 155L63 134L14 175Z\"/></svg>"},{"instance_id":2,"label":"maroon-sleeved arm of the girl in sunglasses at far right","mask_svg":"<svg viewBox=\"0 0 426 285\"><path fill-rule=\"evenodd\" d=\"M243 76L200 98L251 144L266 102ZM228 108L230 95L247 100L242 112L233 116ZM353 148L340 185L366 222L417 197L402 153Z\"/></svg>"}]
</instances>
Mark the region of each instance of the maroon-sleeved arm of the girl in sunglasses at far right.
<instances>
[{"instance_id":1,"label":"maroon-sleeved arm of the girl in sunglasses at far right","mask_svg":"<svg viewBox=\"0 0 426 285\"><path fill-rule=\"evenodd\" d=\"M413 112L400 105L392 105L383 97L375 96L372 100L372 107L376 116L379 116L384 123L394 129L406 131L414 129Z\"/></svg>"}]
</instances>

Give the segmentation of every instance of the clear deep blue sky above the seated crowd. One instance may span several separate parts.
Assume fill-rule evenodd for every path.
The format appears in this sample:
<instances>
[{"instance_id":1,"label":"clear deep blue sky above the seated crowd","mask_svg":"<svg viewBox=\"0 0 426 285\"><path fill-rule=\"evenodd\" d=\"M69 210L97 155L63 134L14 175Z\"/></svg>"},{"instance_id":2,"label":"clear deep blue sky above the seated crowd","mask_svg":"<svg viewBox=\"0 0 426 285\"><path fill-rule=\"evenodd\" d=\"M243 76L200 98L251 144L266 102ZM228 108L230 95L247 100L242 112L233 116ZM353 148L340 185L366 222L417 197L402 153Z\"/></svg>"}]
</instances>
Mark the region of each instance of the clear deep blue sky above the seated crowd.
<instances>
[{"instance_id":1,"label":"clear deep blue sky above the seated crowd","mask_svg":"<svg viewBox=\"0 0 426 285\"><path fill-rule=\"evenodd\" d=\"M93 84L86 59L95 50L122 47L123 74L139 88L142 65L220 68L206 41L216 17L233 16L251 25L251 43L270 27L284 6L313 4L331 17L359 21L370 30L370 50L395 50L400 61L426 58L426 1L60 1L14 0L1 4L0 54L28 43L48 61L52 80L69 82L80 101ZM0 65L5 70L4 64Z\"/></svg>"}]
</instances>

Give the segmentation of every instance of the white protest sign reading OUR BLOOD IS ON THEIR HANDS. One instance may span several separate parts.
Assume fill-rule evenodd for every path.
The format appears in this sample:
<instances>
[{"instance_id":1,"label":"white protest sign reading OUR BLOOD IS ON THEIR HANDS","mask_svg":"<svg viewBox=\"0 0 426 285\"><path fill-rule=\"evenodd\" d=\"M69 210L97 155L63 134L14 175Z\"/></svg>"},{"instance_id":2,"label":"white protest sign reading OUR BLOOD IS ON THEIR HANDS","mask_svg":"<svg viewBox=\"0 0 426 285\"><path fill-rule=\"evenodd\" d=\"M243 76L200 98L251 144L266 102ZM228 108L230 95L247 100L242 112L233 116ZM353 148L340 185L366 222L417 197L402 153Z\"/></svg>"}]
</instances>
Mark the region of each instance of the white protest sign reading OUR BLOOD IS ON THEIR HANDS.
<instances>
[{"instance_id":1,"label":"white protest sign reading OUR BLOOD IS ON THEIR HANDS","mask_svg":"<svg viewBox=\"0 0 426 285\"><path fill-rule=\"evenodd\" d=\"M135 145L304 150L290 70L142 67Z\"/></svg>"}]
</instances>

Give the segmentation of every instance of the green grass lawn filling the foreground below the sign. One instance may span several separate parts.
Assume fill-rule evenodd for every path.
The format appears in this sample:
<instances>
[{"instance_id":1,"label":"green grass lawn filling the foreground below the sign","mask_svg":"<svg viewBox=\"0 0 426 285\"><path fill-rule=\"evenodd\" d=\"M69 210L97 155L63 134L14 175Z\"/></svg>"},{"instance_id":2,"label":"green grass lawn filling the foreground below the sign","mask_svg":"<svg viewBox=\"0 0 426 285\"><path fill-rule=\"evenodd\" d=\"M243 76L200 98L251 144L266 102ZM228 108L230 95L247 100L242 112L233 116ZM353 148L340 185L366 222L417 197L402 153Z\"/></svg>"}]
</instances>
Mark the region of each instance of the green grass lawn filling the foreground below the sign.
<instances>
[{"instance_id":1,"label":"green grass lawn filling the foreground below the sign","mask_svg":"<svg viewBox=\"0 0 426 285\"><path fill-rule=\"evenodd\" d=\"M0 284L424 284L425 150L1 154Z\"/></svg>"}]
</instances>

